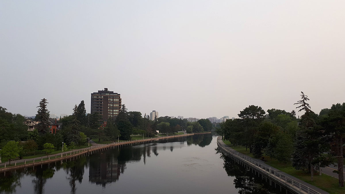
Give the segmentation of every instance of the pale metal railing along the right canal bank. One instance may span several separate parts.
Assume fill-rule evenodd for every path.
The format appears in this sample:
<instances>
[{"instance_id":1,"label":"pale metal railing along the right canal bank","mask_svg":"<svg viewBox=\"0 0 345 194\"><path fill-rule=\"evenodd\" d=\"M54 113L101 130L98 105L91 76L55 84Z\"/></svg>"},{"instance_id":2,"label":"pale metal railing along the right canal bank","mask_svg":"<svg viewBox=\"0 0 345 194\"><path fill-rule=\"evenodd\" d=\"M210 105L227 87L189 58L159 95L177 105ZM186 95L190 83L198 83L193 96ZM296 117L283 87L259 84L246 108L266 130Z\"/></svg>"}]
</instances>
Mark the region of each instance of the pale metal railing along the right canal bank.
<instances>
[{"instance_id":1,"label":"pale metal railing along the right canal bank","mask_svg":"<svg viewBox=\"0 0 345 194\"><path fill-rule=\"evenodd\" d=\"M221 143L223 143L223 141L221 140L221 137L217 138L217 141L219 141L219 140L221 141ZM221 144L221 143L219 143L218 146L221 147L224 151L228 152L229 154L232 154L232 155L235 155L237 157L240 157L240 158L248 161L249 163L254 164L255 166L258 166L259 168L262 168L263 170L269 172L269 174L272 174L272 175L274 175L276 177L279 177L280 180L283 180L286 183L289 183L292 186L297 187L300 191L304 191L304 192L306 192L308 194L309 193L310 194L321 194L321 193L315 191L314 189L312 189L312 188L310 188L310 187L308 187L308 186L306 186L306 185L304 185L304 184L302 184L300 182L294 181L292 178L289 178L289 177L287 177L287 176L285 176L283 174L280 174L277 171L272 170L271 167L268 167L266 165L258 163L257 161L255 161L251 157L248 157L248 156L246 156L244 154L241 154L241 153L239 153L237 151L229 149L227 146L223 145L224 143L223 144Z\"/></svg>"}]
</instances>

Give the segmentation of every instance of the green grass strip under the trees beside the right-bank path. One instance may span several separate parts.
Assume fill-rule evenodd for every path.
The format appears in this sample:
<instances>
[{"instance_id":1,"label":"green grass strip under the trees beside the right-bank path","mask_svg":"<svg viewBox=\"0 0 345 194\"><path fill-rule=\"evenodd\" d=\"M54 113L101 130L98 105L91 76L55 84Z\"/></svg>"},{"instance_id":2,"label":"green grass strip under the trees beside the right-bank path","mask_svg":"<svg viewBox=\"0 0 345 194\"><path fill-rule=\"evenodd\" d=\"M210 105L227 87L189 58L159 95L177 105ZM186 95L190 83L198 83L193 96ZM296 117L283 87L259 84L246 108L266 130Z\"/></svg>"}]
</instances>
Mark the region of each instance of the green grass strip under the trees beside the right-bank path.
<instances>
[{"instance_id":1,"label":"green grass strip under the trees beside the right-bank path","mask_svg":"<svg viewBox=\"0 0 345 194\"><path fill-rule=\"evenodd\" d=\"M227 140L223 140L223 142L226 145L228 145L229 147L235 149L236 151L254 158L253 154L249 153L249 149L247 149L247 151L246 151L245 147L233 146ZM274 168L277 168L280 171L283 171L283 172L285 172L289 175L292 175L296 178L299 178L300 180L305 181L311 185L317 186L317 187L321 188L322 190L327 191L328 193L331 193L331 194L345 193L345 188L338 186L338 179L337 178L334 178L332 176L328 176L326 174L322 174L321 176L319 176L318 172L315 172L314 181L312 182L312 181L310 181L310 174L308 172L296 170L294 167L292 167L291 163L284 164L282 162L277 161L274 158L271 161L271 159L269 157L267 157L267 156L264 156L264 157L267 158L267 162L265 162L265 164L270 165Z\"/></svg>"}]
</instances>

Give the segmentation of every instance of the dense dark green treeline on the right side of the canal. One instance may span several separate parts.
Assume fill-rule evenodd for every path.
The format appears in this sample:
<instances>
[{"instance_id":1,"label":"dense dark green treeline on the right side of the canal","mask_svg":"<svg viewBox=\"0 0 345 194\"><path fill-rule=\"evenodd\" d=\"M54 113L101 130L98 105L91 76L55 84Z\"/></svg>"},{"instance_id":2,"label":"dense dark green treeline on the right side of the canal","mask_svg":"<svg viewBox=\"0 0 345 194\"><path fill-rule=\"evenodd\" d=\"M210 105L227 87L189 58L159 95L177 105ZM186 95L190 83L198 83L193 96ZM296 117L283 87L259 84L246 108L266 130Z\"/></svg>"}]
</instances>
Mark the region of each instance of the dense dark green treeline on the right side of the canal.
<instances>
[{"instance_id":1,"label":"dense dark green treeline on the right side of the canal","mask_svg":"<svg viewBox=\"0 0 345 194\"><path fill-rule=\"evenodd\" d=\"M333 104L319 114L311 110L308 97L302 92L295 103L304 114L296 118L287 112L250 105L239 118L222 123L217 133L233 145L244 146L256 158L263 155L280 162L292 163L296 169L307 170L313 181L314 170L338 163L339 186L344 186L343 158L345 138L345 103Z\"/></svg>"}]
</instances>

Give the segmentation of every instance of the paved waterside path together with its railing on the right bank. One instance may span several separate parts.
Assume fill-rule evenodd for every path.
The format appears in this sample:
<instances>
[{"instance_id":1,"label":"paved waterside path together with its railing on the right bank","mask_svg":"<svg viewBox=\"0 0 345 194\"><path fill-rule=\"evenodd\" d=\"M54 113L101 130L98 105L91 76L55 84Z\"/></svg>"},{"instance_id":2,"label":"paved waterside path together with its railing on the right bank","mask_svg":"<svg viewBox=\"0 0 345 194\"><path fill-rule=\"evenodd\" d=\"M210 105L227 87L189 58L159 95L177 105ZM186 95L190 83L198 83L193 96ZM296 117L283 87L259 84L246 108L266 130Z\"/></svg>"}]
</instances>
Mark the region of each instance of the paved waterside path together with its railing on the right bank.
<instances>
[{"instance_id":1,"label":"paved waterside path together with its railing on the right bank","mask_svg":"<svg viewBox=\"0 0 345 194\"><path fill-rule=\"evenodd\" d=\"M305 193L312 193L312 194L318 194L318 193L328 194L328 192L322 190L321 188L318 188L314 185L306 183L302 180L299 180L298 178L294 176L291 176L287 173L279 171L278 169L272 166L265 164L264 161L260 159L255 159L255 158L252 158L252 157L249 157L247 155L237 152L235 149L227 146L221 139L221 136L217 138L217 143L220 146L220 148L224 149L225 151L235 154L237 157L244 159L249 164L254 164L257 168L264 169L265 171L269 172L269 174L271 174L272 176L276 176L277 178L279 178L279 180L281 180L282 182L291 184L293 188L295 187L298 188L298 190L301 191L300 193L305 192Z\"/></svg>"}]
</instances>

